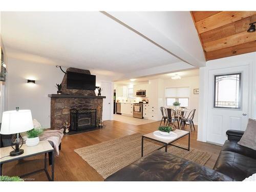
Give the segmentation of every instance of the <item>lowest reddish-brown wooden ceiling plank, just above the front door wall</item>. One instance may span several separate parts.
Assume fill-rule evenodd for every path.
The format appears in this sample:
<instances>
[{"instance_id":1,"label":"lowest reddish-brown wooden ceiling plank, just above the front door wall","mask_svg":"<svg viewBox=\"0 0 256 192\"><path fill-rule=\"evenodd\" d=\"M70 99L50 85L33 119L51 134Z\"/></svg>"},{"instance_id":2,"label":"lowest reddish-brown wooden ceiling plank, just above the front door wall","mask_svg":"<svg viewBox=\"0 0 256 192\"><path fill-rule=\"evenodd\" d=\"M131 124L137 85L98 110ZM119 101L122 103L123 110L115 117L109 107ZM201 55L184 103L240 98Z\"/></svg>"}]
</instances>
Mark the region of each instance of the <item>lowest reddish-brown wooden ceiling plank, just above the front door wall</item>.
<instances>
[{"instance_id":1,"label":"lowest reddish-brown wooden ceiling plank, just above the front door wall","mask_svg":"<svg viewBox=\"0 0 256 192\"><path fill-rule=\"evenodd\" d=\"M213 60L234 55L241 55L256 51L256 41L247 42L238 46L233 46L216 51L206 52L206 60Z\"/></svg>"}]
</instances>

